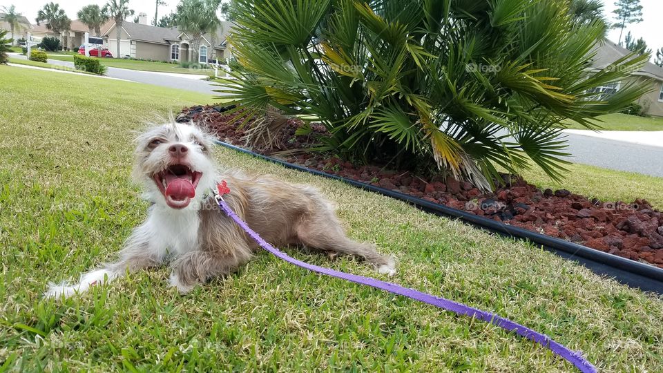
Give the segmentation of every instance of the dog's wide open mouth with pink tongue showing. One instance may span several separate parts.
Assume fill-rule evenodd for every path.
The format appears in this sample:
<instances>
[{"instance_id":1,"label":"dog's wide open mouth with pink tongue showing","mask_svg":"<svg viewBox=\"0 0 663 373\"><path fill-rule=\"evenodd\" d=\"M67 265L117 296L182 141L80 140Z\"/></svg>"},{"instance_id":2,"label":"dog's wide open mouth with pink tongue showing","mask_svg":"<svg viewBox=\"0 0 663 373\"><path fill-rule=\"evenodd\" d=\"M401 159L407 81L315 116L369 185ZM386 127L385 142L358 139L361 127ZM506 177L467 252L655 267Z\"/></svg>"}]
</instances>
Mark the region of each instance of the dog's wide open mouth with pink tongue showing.
<instances>
[{"instance_id":1,"label":"dog's wide open mouth with pink tongue showing","mask_svg":"<svg viewBox=\"0 0 663 373\"><path fill-rule=\"evenodd\" d=\"M195 197L195 187L198 186L202 173L192 171L184 164L171 164L164 171L155 173L152 178L157 187L166 198L166 204L173 209L183 209L189 206L191 198Z\"/></svg>"}]
</instances>

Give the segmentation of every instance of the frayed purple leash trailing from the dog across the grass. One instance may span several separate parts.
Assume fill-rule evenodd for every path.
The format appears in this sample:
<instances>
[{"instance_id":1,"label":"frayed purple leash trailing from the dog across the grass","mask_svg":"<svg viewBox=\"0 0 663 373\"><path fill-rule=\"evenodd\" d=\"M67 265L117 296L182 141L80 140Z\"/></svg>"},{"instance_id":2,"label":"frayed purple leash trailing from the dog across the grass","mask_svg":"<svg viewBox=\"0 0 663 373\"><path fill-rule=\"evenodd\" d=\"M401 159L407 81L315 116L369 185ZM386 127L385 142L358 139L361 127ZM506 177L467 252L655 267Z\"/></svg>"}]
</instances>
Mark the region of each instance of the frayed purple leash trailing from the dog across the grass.
<instances>
[{"instance_id":1,"label":"frayed purple leash trailing from the dog across the grass","mask_svg":"<svg viewBox=\"0 0 663 373\"><path fill-rule=\"evenodd\" d=\"M220 189L221 187L226 188L225 182L223 182L222 186L220 185ZM228 193L229 191L230 190L227 189L226 193ZM572 350L569 350L564 345L561 345L560 343L553 341L553 339L546 336L546 334L535 332L534 330L529 329L528 327L524 327L523 325L519 325L517 323L514 323L513 321L510 321L508 318L503 318L497 316L496 314L492 314L490 312L481 311L481 309L476 309L470 306L466 306L463 305L462 303L457 303L452 300L440 298L438 296L432 296L430 294L426 294L421 291L408 289L407 287L402 287L400 285L385 283L384 281L376 280L375 278L357 276L354 274L346 274L345 272L334 271L334 269L318 267L317 265L310 265L307 262L302 262L301 260L291 258L287 256L287 254L285 254L284 252L270 245L269 242L263 240L262 237L258 236L258 233L253 231L253 229L251 229L249 225L246 222L244 222L244 220L240 219L240 217L237 216L235 211L233 211L228 206L228 204L223 200L223 198L221 198L221 196L219 195L219 193L217 193L217 191L214 191L214 193L215 193L216 202L218 202L219 207L225 213L227 213L227 215L232 220L234 220L240 227L242 227L244 231L249 233L249 236L251 236L253 240L256 240L256 242L258 242L258 244L260 245L260 247L262 247L262 249L269 251L277 258L285 260L286 262L289 262L290 264L296 265L298 267L308 269L309 271L318 272L318 274L325 274L327 276L332 276L336 278L342 278L343 280L352 281L353 283L375 287L376 289L383 289L393 294L407 296L407 298L412 298L414 300L419 300L420 302L423 303L428 303L429 305L434 305L435 307L439 307L441 309L454 312L455 314L470 316L473 318L477 318L478 320L481 321L486 321L486 323L497 325L502 329L506 329L508 332L516 332L516 334L519 334L520 336L523 336L532 341L535 341L536 343L539 343L539 345L546 347L548 350L552 351L553 354L560 356L569 363L575 365L575 367L577 367L580 370L580 372L583 373L597 372L596 367L582 356L582 352L579 351L574 352ZM224 191L222 191L221 193L223 194Z\"/></svg>"}]
</instances>

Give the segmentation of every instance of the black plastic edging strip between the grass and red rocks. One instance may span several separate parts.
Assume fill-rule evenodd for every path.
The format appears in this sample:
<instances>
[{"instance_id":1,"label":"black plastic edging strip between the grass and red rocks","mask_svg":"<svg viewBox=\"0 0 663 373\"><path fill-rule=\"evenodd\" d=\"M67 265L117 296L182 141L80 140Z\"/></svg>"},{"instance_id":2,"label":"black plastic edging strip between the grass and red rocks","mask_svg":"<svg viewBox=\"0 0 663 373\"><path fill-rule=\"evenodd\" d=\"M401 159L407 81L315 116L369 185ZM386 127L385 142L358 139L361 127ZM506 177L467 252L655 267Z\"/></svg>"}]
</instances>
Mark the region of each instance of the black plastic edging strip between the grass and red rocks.
<instances>
[{"instance_id":1,"label":"black plastic edging strip between the grass and red rocks","mask_svg":"<svg viewBox=\"0 0 663 373\"><path fill-rule=\"evenodd\" d=\"M576 243L561 240L559 238L545 236L534 231L528 231L527 229L513 227L511 225L504 224L503 222L484 218L483 216L478 216L467 211L452 209L451 207L445 206L443 204L421 200L420 198L416 198L412 195L391 191L381 187L375 187L374 185L358 182L356 180L341 178L340 176L331 175L329 173L324 173L314 169L307 169L306 167L299 166L297 164L291 164L276 158L267 157L266 155L254 153L247 149L240 148L239 146L227 144L226 142L218 140L215 140L215 142L220 146L224 146L241 153L253 155L254 157L258 157L262 160L280 164L281 166L285 166L289 169L296 169L298 171L323 176L325 178L339 180L347 184L351 184L354 187L359 187L361 189L387 195L389 197L413 204L415 207L423 211L434 213L438 216L452 216L454 218L460 218L465 222L469 222L470 224L481 227L483 229L488 229L490 231L500 233L503 236L530 240L541 245L548 251L553 251L553 253L563 258L582 263L596 274L613 277L615 280L625 285L637 287L644 291L653 291L663 295L663 269L651 265L646 265L641 262L636 262L635 260L622 258L621 256L604 253L603 251L591 249L590 247L578 245Z\"/></svg>"}]
</instances>

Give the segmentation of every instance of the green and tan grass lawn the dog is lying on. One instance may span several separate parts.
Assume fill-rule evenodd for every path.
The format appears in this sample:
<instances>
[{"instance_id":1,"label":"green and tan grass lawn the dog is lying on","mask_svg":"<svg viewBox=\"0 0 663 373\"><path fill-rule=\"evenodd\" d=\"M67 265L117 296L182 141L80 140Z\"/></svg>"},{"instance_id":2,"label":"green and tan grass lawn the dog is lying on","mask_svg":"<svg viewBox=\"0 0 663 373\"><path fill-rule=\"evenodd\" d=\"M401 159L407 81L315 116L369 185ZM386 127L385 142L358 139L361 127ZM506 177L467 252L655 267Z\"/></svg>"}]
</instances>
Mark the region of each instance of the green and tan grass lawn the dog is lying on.
<instances>
[{"instance_id":1,"label":"green and tan grass lawn the dog is lying on","mask_svg":"<svg viewBox=\"0 0 663 373\"><path fill-rule=\"evenodd\" d=\"M148 204L128 182L134 131L210 99L9 66L0 66L0 77L0 367L573 371L497 327L322 278L262 252L238 274L184 296L161 268L64 303L42 300L48 281L111 260L145 217ZM341 182L225 149L217 157L222 166L314 184L338 204L349 236L396 255L396 283L545 332L585 352L602 372L663 370L661 297ZM285 249L316 265L383 278L349 258Z\"/></svg>"}]
</instances>

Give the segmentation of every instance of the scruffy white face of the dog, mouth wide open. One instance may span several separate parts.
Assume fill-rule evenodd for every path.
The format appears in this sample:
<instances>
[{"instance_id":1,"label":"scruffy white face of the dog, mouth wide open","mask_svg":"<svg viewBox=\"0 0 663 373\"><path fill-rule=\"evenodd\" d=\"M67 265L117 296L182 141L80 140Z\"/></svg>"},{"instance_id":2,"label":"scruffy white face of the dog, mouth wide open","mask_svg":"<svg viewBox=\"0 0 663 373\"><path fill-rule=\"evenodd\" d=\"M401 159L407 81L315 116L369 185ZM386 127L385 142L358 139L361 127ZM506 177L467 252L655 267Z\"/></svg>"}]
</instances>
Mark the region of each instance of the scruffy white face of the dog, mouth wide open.
<instances>
[{"instance_id":1,"label":"scruffy white face of the dog, mouth wide open","mask_svg":"<svg viewBox=\"0 0 663 373\"><path fill-rule=\"evenodd\" d=\"M148 188L151 200L184 209L211 187L211 141L199 128L170 123L137 138L133 177Z\"/></svg>"}]
</instances>

